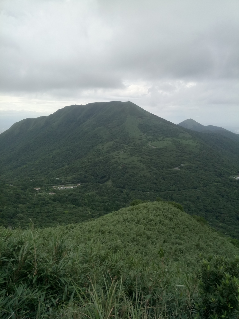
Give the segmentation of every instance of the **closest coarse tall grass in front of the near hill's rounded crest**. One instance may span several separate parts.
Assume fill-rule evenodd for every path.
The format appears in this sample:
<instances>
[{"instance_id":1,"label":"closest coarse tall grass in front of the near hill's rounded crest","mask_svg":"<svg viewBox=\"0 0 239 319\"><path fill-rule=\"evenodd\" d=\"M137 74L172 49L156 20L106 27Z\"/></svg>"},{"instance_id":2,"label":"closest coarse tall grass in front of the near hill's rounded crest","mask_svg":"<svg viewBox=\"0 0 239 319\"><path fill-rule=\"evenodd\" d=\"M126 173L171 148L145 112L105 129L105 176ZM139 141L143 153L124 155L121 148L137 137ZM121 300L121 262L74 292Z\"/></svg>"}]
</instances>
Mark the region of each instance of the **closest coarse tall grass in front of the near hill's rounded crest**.
<instances>
[{"instance_id":1,"label":"closest coarse tall grass in front of the near hill's rounded crest","mask_svg":"<svg viewBox=\"0 0 239 319\"><path fill-rule=\"evenodd\" d=\"M59 236L1 230L0 317L184 318L193 302L174 273L124 252L88 242L72 247ZM185 276L179 278L185 281ZM193 290L195 294L195 289ZM190 312L191 311L191 312Z\"/></svg>"}]
</instances>

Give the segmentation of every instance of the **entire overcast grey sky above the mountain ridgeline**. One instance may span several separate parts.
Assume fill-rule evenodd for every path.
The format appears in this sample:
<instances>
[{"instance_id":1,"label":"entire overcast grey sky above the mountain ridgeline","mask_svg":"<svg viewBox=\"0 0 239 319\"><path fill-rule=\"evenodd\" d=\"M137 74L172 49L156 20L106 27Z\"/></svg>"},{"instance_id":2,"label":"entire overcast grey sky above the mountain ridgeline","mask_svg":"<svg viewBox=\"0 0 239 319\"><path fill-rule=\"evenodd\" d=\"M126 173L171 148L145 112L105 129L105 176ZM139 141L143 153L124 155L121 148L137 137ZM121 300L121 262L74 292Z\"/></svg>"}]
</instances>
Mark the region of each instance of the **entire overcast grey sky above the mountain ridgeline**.
<instances>
[{"instance_id":1,"label":"entire overcast grey sky above the mountain ridgeline","mask_svg":"<svg viewBox=\"0 0 239 319\"><path fill-rule=\"evenodd\" d=\"M239 130L238 0L1 0L0 11L0 131L111 100Z\"/></svg>"}]
</instances>

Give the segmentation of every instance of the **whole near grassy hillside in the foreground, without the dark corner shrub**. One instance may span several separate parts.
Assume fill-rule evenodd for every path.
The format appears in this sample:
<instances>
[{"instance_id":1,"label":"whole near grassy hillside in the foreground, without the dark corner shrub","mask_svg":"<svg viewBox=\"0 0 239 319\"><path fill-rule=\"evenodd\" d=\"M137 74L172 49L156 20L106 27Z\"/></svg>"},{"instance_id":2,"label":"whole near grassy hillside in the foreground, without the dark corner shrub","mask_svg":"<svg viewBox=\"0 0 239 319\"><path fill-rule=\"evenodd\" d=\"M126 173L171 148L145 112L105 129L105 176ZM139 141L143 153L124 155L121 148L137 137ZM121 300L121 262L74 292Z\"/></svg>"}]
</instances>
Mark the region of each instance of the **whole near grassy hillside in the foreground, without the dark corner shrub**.
<instances>
[{"instance_id":1,"label":"whole near grassy hillside in the foreground, without the dark corner shrub","mask_svg":"<svg viewBox=\"0 0 239 319\"><path fill-rule=\"evenodd\" d=\"M163 202L78 225L2 228L0 239L1 318L13 312L18 318L107 318L110 311L118 318L193 318L200 301L199 253L234 260L239 252Z\"/></svg>"}]
</instances>

